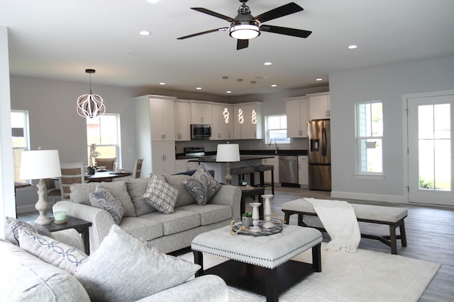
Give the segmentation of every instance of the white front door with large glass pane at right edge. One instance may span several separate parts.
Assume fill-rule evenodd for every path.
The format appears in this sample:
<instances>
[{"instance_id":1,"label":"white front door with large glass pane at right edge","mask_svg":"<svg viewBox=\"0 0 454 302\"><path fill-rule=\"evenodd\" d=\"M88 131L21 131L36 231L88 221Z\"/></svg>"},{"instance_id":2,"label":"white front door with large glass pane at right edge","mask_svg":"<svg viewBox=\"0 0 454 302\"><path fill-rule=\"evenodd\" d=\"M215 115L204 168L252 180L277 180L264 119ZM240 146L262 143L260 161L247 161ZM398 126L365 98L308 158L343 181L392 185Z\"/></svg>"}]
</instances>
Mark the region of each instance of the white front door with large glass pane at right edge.
<instances>
[{"instance_id":1,"label":"white front door with large glass pane at right edge","mask_svg":"<svg viewBox=\"0 0 454 302\"><path fill-rule=\"evenodd\" d=\"M406 98L409 202L454 206L454 91Z\"/></svg>"}]
</instances>

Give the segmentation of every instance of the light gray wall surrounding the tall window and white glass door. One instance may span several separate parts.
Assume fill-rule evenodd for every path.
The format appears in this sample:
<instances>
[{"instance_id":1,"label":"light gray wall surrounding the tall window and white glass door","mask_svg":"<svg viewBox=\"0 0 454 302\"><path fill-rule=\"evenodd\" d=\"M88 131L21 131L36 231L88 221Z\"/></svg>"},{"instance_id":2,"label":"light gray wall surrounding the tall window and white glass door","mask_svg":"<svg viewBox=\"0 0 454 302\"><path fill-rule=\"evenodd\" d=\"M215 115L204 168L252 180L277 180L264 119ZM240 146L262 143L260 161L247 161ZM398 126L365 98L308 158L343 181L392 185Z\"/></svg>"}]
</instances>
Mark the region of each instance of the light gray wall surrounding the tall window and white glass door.
<instances>
[{"instance_id":1,"label":"light gray wall surrounding the tall window and white glass door","mask_svg":"<svg viewBox=\"0 0 454 302\"><path fill-rule=\"evenodd\" d=\"M454 88L454 57L330 74L333 197L407 202L404 198L402 95ZM384 179L355 178L358 102L382 100Z\"/></svg>"}]
</instances>

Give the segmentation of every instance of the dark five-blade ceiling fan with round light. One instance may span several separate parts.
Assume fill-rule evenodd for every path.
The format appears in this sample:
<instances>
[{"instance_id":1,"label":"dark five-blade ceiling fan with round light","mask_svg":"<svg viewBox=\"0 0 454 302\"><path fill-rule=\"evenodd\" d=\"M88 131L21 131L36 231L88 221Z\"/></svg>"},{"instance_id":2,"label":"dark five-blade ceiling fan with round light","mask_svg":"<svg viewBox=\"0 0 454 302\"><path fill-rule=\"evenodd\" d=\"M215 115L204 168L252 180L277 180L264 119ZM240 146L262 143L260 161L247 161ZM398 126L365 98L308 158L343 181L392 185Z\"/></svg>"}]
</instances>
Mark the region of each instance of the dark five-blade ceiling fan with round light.
<instances>
[{"instance_id":1,"label":"dark five-blade ceiling fan with round light","mask_svg":"<svg viewBox=\"0 0 454 302\"><path fill-rule=\"evenodd\" d=\"M238 8L238 15L235 18L231 18L228 16L224 16L221 13L216 13L214 11L210 11L209 9L202 8L202 7L192 7L194 11L199 11L201 13L206 13L210 16L214 16L216 18L221 18L231 23L230 27L225 28L216 28L213 30L206 30L201 33L194 33L192 35L185 35L184 37L177 37L178 40L187 39L188 37L196 37L198 35L204 35L206 33L214 33L217 31L225 31L228 30L231 37L237 39L236 50L242 50L243 48L248 47L249 39L253 39L254 37L258 37L261 31L269 32L269 33L279 33L280 35L291 35L293 37L309 37L311 35L311 31L309 30L299 30L295 28L283 28L281 26L274 26L274 25L262 25L265 21L270 21L272 19L280 18L283 16L290 15L292 13L297 13L298 11L303 11L304 8L299 6L294 2L290 2L289 4L285 4L283 6L279 6L277 8L272 9L271 11L267 11L266 13L262 13L258 16L253 17L250 14L249 6L245 3L248 0L239 0L242 4Z\"/></svg>"}]
</instances>

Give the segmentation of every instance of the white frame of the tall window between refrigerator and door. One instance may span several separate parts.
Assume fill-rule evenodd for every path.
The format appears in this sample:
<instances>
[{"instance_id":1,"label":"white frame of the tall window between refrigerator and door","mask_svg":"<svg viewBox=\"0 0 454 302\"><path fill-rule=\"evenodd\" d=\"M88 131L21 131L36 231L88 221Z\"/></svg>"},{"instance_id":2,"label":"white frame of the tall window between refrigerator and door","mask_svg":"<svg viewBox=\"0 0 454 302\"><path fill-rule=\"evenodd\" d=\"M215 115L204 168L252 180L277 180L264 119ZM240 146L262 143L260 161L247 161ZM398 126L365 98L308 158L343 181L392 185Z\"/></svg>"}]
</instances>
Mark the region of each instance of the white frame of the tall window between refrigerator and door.
<instances>
[{"instance_id":1,"label":"white frame of the tall window between refrigerator and door","mask_svg":"<svg viewBox=\"0 0 454 302\"><path fill-rule=\"evenodd\" d=\"M372 129L373 129L373 126L372 126L372 105L373 104L377 104L377 103L380 103L381 104L381 107L382 107L382 112L381 112L381 135L377 135L377 134L374 134L374 132L372 132ZM370 105L370 111L369 112L360 112L360 108L362 105ZM365 102L358 102L355 104L355 144L356 144L356 174L355 174L355 178L364 178L364 179L383 179L384 178L384 161L383 161L383 158L384 158L384 114L383 114L383 107L384 107L384 104L382 102L382 100L371 100L371 101L365 101ZM368 135L367 133L365 135L363 135L364 132L367 132L367 125L362 121L362 120L366 120L367 121L367 117L365 117L365 115L368 114L369 115L369 120L370 120L370 124L369 124L369 127L370 127L370 135ZM364 115L364 116L362 116ZM366 129L364 128L366 127ZM364 170L367 169L367 167L364 167L364 156L367 158L367 145L365 145L363 143L363 141L365 141L365 143L367 144L367 141L368 140L376 140L376 141L380 141L380 148L381 148L381 158L380 158L380 165L381 165L381 171L380 172L373 172L373 171L369 171L369 170ZM368 163L367 159L366 159L366 162Z\"/></svg>"}]
</instances>

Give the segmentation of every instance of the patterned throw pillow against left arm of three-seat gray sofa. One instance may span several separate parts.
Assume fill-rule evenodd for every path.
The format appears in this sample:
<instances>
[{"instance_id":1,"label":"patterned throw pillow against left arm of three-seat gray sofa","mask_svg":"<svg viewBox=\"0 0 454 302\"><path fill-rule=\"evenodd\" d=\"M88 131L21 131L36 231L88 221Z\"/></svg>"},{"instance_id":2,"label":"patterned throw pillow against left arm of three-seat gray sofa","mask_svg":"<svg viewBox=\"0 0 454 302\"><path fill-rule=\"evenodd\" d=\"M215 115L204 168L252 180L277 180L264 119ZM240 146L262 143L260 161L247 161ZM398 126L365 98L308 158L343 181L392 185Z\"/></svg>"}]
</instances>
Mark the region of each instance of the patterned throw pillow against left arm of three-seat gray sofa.
<instances>
[{"instance_id":1,"label":"patterned throw pillow against left arm of three-seat gray sofa","mask_svg":"<svg viewBox=\"0 0 454 302\"><path fill-rule=\"evenodd\" d=\"M89 194L89 199L93 207L108 211L114 222L120 224L125 210L121 202L106 187L102 185L96 187L96 191Z\"/></svg>"}]
</instances>

